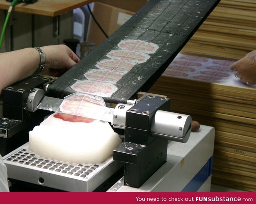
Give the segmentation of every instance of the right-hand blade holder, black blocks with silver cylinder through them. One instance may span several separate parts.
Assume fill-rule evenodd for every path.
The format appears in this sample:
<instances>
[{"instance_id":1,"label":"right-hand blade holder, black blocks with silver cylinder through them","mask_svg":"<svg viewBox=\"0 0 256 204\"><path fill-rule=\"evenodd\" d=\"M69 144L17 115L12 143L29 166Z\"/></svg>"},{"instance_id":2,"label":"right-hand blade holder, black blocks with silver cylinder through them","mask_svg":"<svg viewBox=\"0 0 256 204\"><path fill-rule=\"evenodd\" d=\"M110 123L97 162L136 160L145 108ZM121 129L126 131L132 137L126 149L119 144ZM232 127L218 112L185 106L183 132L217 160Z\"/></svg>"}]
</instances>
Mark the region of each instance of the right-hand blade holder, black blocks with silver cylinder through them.
<instances>
[{"instance_id":1,"label":"right-hand blade holder, black blocks with silver cylinder through them","mask_svg":"<svg viewBox=\"0 0 256 204\"><path fill-rule=\"evenodd\" d=\"M125 130L113 159L125 163L124 185L139 188L165 162L168 140L186 142L191 116L168 112L170 99L148 95L134 106L118 104L113 127Z\"/></svg>"}]
</instances>

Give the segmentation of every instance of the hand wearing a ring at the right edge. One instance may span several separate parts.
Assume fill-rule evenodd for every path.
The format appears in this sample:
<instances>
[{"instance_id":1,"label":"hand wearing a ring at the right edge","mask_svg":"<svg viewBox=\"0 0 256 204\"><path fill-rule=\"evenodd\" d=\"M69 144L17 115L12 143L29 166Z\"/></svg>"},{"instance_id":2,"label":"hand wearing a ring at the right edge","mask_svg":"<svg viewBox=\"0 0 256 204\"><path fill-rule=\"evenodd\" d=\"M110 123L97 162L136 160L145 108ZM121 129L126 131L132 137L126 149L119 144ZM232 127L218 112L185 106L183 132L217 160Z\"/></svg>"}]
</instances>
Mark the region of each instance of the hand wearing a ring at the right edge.
<instances>
[{"instance_id":1,"label":"hand wearing a ring at the right edge","mask_svg":"<svg viewBox=\"0 0 256 204\"><path fill-rule=\"evenodd\" d=\"M256 50L232 64L230 69L244 84L256 84Z\"/></svg>"}]
</instances>

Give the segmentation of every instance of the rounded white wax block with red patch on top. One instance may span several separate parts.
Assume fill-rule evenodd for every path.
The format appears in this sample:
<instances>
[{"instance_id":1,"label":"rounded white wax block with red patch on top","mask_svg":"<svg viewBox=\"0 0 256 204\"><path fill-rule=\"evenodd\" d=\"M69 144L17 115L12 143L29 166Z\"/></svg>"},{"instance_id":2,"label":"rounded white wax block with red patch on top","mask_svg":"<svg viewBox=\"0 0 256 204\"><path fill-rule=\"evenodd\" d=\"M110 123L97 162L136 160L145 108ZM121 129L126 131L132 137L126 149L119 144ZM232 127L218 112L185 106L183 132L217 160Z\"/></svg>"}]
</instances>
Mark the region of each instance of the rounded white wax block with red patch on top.
<instances>
[{"instance_id":1,"label":"rounded white wax block with red patch on top","mask_svg":"<svg viewBox=\"0 0 256 204\"><path fill-rule=\"evenodd\" d=\"M28 149L52 160L97 164L119 144L121 139L108 122L55 113L29 132Z\"/></svg>"}]
</instances>

